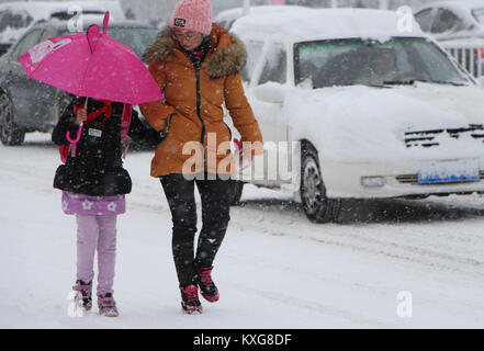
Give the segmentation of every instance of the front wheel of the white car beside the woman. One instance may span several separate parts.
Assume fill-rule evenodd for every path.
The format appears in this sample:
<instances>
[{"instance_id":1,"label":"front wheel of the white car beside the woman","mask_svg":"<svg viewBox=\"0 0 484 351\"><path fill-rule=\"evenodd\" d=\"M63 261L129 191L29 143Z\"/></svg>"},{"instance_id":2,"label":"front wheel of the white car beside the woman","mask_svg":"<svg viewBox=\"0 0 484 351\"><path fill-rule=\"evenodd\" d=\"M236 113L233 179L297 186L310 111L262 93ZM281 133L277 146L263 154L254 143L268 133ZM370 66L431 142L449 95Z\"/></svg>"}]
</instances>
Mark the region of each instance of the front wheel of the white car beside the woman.
<instances>
[{"instance_id":1,"label":"front wheel of the white car beside the woman","mask_svg":"<svg viewBox=\"0 0 484 351\"><path fill-rule=\"evenodd\" d=\"M341 210L340 199L326 197L317 151L306 145L301 151L301 200L307 218L316 223L335 222Z\"/></svg>"}]
</instances>

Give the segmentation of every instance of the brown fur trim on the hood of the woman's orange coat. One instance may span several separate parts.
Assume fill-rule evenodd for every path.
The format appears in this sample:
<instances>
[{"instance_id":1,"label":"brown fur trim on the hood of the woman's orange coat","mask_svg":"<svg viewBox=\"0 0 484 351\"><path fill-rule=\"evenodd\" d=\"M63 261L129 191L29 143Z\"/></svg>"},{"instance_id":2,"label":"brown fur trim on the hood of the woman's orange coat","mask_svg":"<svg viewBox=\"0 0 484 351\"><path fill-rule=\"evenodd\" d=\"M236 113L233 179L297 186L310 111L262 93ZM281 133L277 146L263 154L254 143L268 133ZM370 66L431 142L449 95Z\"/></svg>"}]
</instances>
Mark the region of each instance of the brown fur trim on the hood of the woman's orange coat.
<instances>
[{"instance_id":1,"label":"brown fur trim on the hood of the woman's orange coat","mask_svg":"<svg viewBox=\"0 0 484 351\"><path fill-rule=\"evenodd\" d=\"M235 75L241 70L247 59L244 42L235 34L213 23L210 54L203 64L211 79ZM155 43L145 53L148 64L166 60L176 49L169 26L161 30Z\"/></svg>"}]
</instances>

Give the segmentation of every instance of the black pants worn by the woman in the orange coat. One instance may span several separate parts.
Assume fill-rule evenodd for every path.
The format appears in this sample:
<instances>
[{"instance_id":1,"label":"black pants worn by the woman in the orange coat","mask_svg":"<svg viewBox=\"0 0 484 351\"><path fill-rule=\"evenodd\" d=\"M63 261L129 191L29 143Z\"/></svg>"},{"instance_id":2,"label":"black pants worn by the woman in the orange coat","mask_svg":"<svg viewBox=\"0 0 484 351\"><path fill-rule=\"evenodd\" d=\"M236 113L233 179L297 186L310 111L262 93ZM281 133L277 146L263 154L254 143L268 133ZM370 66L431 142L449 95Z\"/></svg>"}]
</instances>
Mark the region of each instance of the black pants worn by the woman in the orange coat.
<instances>
[{"instance_id":1,"label":"black pants worn by the woman in the orange coat","mask_svg":"<svg viewBox=\"0 0 484 351\"><path fill-rule=\"evenodd\" d=\"M210 174L215 178L214 174ZM202 177L199 177L202 178ZM193 278L200 268L212 267L215 254L227 231L229 216L229 180L212 179L188 180L183 174L160 177L173 222L172 252L180 287L194 284ZM194 184L202 201L202 230L196 252L196 205Z\"/></svg>"}]
</instances>

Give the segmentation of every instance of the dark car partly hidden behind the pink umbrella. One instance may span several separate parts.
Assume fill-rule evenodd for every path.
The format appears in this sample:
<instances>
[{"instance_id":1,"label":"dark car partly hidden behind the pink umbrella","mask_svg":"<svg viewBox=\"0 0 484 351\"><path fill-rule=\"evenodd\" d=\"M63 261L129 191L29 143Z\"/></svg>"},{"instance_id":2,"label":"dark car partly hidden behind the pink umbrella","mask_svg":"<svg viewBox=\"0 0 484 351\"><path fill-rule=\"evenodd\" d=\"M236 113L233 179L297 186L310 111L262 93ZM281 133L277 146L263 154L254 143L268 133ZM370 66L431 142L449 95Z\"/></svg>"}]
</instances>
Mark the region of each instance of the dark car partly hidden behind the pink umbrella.
<instances>
[{"instance_id":1,"label":"dark car partly hidden behind the pink umbrella","mask_svg":"<svg viewBox=\"0 0 484 351\"><path fill-rule=\"evenodd\" d=\"M95 24L101 26L101 22ZM131 47L139 58L157 33L157 29L133 21L110 22L108 29L110 36ZM25 133L50 133L71 101L72 95L67 92L30 79L16 60L43 41L69 34L72 33L66 21L41 21L0 58L0 139L3 145L22 144Z\"/></svg>"}]
</instances>

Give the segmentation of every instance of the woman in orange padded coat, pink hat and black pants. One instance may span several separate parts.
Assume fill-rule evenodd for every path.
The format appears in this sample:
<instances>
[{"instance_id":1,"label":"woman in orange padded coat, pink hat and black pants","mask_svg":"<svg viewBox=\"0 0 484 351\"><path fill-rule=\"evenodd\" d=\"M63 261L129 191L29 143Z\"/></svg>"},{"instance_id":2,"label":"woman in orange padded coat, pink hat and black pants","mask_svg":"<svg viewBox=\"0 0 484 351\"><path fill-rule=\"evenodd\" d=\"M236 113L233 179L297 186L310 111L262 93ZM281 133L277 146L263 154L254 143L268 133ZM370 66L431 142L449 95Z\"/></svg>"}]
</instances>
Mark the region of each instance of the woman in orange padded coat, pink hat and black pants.
<instances>
[{"instance_id":1,"label":"woman in orange padded coat, pink hat and black pants","mask_svg":"<svg viewBox=\"0 0 484 351\"><path fill-rule=\"evenodd\" d=\"M149 124L166 135L151 161L151 176L160 178L170 206L181 305L190 314L202 312L199 287L206 301L218 299L211 273L228 226L228 178L234 171L226 162L232 136L223 122L223 103L244 144L257 143L250 155L262 149L262 136L240 79L246 56L240 39L212 23L207 0L180 1L170 26L158 34L145 55L166 97L165 103L140 105ZM203 219L196 252L194 184Z\"/></svg>"}]
</instances>

